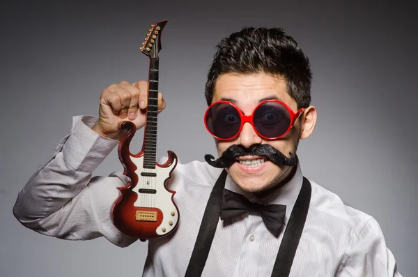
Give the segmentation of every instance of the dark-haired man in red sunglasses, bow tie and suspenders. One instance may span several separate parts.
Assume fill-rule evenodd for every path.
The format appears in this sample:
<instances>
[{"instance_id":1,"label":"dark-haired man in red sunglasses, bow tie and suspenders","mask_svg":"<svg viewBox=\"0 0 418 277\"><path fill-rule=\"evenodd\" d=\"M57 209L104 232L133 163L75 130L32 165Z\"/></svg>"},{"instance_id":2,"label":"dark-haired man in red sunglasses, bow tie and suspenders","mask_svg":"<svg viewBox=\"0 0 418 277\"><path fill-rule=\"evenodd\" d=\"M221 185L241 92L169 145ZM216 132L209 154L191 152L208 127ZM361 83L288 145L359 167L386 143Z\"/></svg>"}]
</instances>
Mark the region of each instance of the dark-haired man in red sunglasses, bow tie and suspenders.
<instances>
[{"instance_id":1,"label":"dark-haired man in red sunglasses, bow tie and suspenders","mask_svg":"<svg viewBox=\"0 0 418 277\"><path fill-rule=\"evenodd\" d=\"M74 118L54 158L17 197L13 212L23 225L121 247L136 240L109 213L129 179L92 172L123 137L121 122L144 126L147 86L113 84L98 119ZM219 158L173 171L168 187L177 191L180 223L149 241L144 276L401 276L376 220L302 176L297 144L316 123L310 87L309 60L281 29L245 28L217 45L205 122Z\"/></svg>"}]
</instances>

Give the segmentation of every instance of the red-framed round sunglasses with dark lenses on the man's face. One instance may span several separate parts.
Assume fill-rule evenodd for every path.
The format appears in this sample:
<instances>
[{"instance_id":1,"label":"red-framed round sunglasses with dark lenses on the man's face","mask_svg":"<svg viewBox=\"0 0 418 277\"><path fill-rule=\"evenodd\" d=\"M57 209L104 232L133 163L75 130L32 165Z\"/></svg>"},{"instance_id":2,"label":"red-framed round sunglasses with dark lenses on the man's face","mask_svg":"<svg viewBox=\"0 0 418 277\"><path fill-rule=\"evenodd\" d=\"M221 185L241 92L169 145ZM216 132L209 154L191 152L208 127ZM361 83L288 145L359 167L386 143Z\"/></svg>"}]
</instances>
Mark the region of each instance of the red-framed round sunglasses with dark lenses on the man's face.
<instances>
[{"instance_id":1,"label":"red-framed round sunglasses with dark lenses on the man's face","mask_svg":"<svg viewBox=\"0 0 418 277\"><path fill-rule=\"evenodd\" d=\"M279 100L264 100L251 115L245 115L233 103L219 100L212 103L205 112L205 126L210 135L218 140L233 140L249 122L257 135L265 140L276 140L291 130L304 108L296 113Z\"/></svg>"}]
</instances>

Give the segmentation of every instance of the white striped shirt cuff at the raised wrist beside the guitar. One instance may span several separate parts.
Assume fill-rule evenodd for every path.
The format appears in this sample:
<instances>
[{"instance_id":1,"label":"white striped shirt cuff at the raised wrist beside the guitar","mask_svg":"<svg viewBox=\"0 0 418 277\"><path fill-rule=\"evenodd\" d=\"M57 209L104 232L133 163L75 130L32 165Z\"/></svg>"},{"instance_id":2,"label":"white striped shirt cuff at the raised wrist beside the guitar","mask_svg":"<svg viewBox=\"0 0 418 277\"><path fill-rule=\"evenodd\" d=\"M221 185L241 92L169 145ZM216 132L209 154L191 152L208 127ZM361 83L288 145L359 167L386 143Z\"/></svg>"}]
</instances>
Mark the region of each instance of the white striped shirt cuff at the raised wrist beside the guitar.
<instances>
[{"instance_id":1,"label":"white striped shirt cuff at the raised wrist beside the guitar","mask_svg":"<svg viewBox=\"0 0 418 277\"><path fill-rule=\"evenodd\" d=\"M95 133L91 127L97 121L93 116L72 118L70 137L62 151L65 164L73 170L93 172L119 143Z\"/></svg>"}]
</instances>

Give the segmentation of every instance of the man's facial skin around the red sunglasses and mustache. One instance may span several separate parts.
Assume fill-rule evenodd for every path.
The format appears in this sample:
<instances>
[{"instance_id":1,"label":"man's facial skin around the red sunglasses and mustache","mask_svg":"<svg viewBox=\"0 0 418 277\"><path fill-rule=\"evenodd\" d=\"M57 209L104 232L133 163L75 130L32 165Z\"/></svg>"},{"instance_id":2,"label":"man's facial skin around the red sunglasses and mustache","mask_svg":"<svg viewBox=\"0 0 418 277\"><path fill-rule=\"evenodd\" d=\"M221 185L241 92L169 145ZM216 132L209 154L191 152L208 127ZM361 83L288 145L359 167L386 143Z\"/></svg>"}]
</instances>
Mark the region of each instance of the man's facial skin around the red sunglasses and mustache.
<instances>
[{"instance_id":1,"label":"man's facial skin around the red sunglasses and mustache","mask_svg":"<svg viewBox=\"0 0 418 277\"><path fill-rule=\"evenodd\" d=\"M286 103L293 112L297 112L296 101L288 95L286 81L281 77L273 77L266 73L238 74L226 73L217 78L212 103L219 100L229 100L242 111L245 115L251 115L258 103L267 99L278 99ZM250 123L242 126L241 133L233 140L216 140L219 156L222 155L232 144L240 144L243 147L251 147L254 144L270 144L275 149L281 151L289 157L289 152L295 154L297 141L300 133L298 121L293 128L284 137L278 140L265 140L258 136ZM242 156L239 160L254 160L263 157ZM231 178L242 189L247 191L259 191L283 180L289 167L278 166L270 160L265 160L260 165L247 166L239 163L233 163L229 167Z\"/></svg>"}]
</instances>

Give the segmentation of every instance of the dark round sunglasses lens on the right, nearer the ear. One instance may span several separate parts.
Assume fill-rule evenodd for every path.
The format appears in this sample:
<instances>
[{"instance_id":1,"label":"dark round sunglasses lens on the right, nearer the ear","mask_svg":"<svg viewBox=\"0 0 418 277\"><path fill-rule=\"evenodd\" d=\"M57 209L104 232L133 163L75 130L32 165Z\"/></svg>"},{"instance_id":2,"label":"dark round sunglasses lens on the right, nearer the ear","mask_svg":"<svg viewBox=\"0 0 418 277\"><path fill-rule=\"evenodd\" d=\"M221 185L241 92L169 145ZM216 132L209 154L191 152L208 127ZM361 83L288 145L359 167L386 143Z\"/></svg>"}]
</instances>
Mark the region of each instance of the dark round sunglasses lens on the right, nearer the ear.
<instances>
[{"instance_id":1,"label":"dark round sunglasses lens on the right, nearer the ear","mask_svg":"<svg viewBox=\"0 0 418 277\"><path fill-rule=\"evenodd\" d=\"M258 106L254 112L254 127L265 137L280 137L291 126L291 116L284 107L277 102L266 102Z\"/></svg>"}]
</instances>

